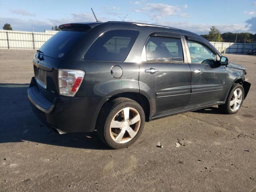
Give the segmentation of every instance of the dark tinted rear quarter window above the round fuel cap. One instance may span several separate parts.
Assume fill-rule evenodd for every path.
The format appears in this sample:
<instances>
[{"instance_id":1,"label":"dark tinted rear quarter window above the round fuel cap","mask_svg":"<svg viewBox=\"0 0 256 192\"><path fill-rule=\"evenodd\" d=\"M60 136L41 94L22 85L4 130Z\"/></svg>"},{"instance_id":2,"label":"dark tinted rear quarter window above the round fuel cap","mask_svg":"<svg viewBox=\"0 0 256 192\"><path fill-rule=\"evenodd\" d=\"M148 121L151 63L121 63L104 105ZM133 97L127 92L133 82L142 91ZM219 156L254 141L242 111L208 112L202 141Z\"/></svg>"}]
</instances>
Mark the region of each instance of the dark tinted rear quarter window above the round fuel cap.
<instances>
[{"instance_id":1,"label":"dark tinted rear quarter window above the round fuel cap","mask_svg":"<svg viewBox=\"0 0 256 192\"><path fill-rule=\"evenodd\" d=\"M84 55L84 60L123 62L138 34L136 30L107 31L90 46Z\"/></svg>"}]
</instances>

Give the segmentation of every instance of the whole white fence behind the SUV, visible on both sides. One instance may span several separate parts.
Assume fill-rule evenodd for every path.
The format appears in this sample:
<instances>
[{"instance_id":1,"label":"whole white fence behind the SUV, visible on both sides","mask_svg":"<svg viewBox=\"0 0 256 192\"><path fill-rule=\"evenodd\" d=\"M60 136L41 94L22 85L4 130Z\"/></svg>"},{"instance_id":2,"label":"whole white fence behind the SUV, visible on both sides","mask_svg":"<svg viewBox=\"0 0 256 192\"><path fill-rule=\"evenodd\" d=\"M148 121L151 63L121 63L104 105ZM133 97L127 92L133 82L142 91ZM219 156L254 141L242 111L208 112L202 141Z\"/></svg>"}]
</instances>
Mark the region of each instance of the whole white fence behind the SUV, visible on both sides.
<instances>
[{"instance_id":1,"label":"whole white fence behind the SUV, visible on both sides","mask_svg":"<svg viewBox=\"0 0 256 192\"><path fill-rule=\"evenodd\" d=\"M58 31L28 32L0 30L0 49L39 49ZM244 54L256 44L210 42L221 53Z\"/></svg>"}]
</instances>

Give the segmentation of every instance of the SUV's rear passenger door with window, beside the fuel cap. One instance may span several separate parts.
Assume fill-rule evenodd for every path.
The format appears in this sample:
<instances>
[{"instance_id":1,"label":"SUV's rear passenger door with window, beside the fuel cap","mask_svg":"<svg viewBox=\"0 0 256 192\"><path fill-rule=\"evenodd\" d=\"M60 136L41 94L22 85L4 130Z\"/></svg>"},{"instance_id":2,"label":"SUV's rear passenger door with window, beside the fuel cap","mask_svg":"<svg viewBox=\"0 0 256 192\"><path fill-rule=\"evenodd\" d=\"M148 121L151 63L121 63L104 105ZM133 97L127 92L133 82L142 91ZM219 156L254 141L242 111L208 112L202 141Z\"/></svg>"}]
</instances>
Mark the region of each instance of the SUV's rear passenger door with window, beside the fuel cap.
<instances>
[{"instance_id":1,"label":"SUV's rear passenger door with window, beside the fuel cap","mask_svg":"<svg viewBox=\"0 0 256 192\"><path fill-rule=\"evenodd\" d=\"M176 33L154 34L144 46L139 85L141 91L154 99L154 114L168 113L188 104L191 71L183 47L182 36Z\"/></svg>"}]
</instances>

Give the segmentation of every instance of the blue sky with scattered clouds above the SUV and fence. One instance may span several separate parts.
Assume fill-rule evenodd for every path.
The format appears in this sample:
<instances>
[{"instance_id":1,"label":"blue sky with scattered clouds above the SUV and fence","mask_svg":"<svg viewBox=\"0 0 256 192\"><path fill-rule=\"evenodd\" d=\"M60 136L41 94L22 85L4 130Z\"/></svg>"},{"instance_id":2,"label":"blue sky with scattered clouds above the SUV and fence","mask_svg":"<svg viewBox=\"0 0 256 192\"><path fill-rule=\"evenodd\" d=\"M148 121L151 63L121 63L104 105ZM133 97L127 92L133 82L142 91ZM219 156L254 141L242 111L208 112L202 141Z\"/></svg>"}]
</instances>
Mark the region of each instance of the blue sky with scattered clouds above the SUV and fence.
<instances>
[{"instance_id":1,"label":"blue sky with scattered clouds above the SUV and fence","mask_svg":"<svg viewBox=\"0 0 256 192\"><path fill-rule=\"evenodd\" d=\"M72 2L72 3L71 3ZM13 30L44 32L68 22L120 20L172 26L207 34L211 26L222 33L256 33L256 0L0 0L0 25Z\"/></svg>"}]
</instances>

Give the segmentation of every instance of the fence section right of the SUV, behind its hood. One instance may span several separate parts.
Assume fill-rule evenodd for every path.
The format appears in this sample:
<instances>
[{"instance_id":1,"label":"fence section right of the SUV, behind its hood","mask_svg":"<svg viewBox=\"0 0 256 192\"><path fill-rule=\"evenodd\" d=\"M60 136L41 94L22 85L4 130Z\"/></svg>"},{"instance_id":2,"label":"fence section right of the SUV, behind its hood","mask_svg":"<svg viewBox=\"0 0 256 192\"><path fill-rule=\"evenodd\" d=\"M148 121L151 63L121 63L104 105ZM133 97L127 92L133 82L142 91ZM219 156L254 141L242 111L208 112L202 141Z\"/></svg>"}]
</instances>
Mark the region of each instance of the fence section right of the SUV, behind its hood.
<instances>
[{"instance_id":1,"label":"fence section right of the SUV, behind its hood","mask_svg":"<svg viewBox=\"0 0 256 192\"><path fill-rule=\"evenodd\" d=\"M249 49L256 48L256 44L210 42L220 53L245 54Z\"/></svg>"}]
</instances>

